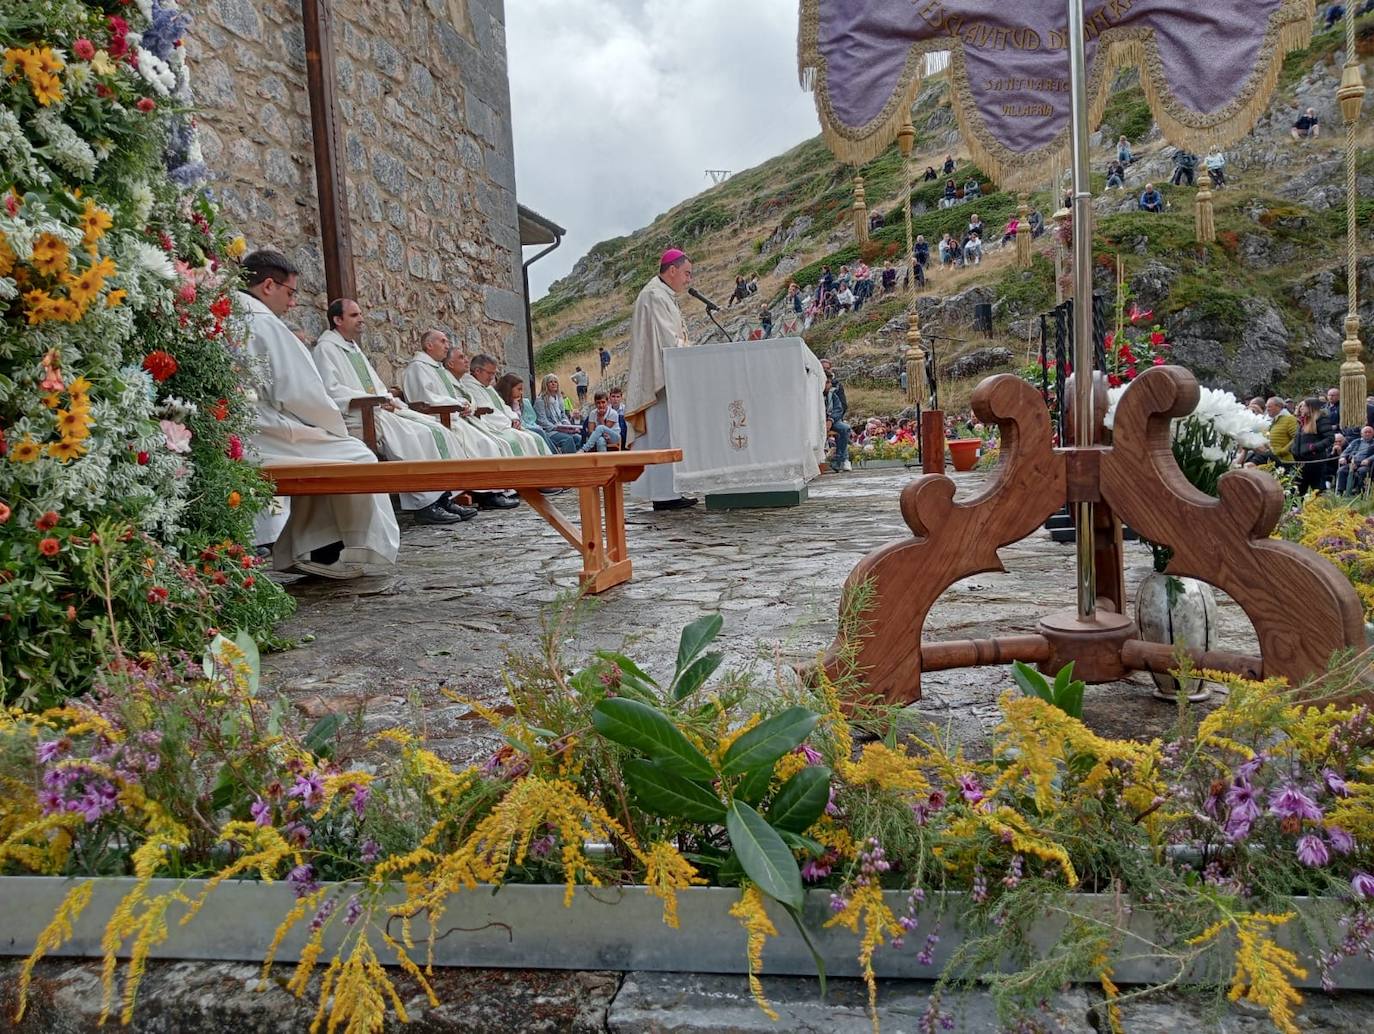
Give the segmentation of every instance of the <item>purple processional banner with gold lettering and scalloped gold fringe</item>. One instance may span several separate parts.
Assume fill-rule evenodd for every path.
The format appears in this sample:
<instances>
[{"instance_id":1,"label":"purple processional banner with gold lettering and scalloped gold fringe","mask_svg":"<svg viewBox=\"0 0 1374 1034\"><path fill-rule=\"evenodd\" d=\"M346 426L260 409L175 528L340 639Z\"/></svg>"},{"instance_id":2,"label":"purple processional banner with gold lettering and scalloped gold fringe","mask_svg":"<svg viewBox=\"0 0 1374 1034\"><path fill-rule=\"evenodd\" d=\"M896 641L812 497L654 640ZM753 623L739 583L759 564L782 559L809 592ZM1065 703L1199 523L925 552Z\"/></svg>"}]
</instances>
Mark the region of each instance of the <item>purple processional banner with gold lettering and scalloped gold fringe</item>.
<instances>
[{"instance_id":1,"label":"purple processional banner with gold lettering and scalloped gold fringe","mask_svg":"<svg viewBox=\"0 0 1374 1034\"><path fill-rule=\"evenodd\" d=\"M1314 0L1084 0L1091 125L1113 73L1136 66L1168 140L1231 143L1264 111L1312 18ZM925 55L940 51L973 159L1004 185L1043 183L1069 146L1068 0L801 0L802 85L842 161L867 162L893 140Z\"/></svg>"}]
</instances>

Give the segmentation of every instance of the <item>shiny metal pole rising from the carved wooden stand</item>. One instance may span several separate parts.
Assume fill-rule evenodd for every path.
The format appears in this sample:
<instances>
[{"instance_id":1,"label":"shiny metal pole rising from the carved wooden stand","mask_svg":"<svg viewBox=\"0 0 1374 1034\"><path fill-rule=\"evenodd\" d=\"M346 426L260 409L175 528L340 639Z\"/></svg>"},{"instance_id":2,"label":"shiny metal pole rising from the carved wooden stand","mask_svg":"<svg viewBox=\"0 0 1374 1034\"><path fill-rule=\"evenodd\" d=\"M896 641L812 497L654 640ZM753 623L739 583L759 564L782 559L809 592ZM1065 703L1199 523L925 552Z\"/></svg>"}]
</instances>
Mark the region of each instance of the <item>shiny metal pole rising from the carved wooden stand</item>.
<instances>
[{"instance_id":1,"label":"shiny metal pole rising from the carved wooden stand","mask_svg":"<svg viewBox=\"0 0 1374 1034\"><path fill-rule=\"evenodd\" d=\"M1083 0L1069 1L1069 133L1073 151L1073 444L1091 446L1092 412L1092 180L1088 168L1088 70ZM1092 504L1076 504L1079 617L1096 610Z\"/></svg>"}]
</instances>

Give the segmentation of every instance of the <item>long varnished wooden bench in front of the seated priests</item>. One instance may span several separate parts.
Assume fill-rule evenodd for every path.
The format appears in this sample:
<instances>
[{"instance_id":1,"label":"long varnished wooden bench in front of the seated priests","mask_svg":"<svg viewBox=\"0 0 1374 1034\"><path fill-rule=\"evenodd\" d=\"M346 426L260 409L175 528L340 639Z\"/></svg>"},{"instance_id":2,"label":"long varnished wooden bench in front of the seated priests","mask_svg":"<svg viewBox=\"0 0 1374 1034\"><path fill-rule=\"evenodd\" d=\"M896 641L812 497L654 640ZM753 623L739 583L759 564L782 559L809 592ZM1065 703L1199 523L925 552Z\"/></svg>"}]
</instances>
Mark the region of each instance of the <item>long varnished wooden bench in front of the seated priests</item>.
<instances>
[{"instance_id":1,"label":"long varnished wooden bench in front of the seated priests","mask_svg":"<svg viewBox=\"0 0 1374 1034\"><path fill-rule=\"evenodd\" d=\"M631 449L573 456L510 456L496 460L393 460L392 463L289 463L262 467L278 496L364 496L392 492L514 489L583 555L583 590L605 592L629 581L624 483L644 467L676 463L682 449ZM581 527L540 493L577 489Z\"/></svg>"}]
</instances>

